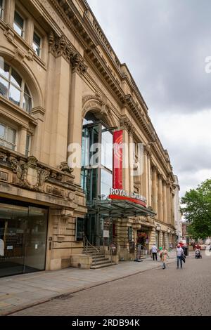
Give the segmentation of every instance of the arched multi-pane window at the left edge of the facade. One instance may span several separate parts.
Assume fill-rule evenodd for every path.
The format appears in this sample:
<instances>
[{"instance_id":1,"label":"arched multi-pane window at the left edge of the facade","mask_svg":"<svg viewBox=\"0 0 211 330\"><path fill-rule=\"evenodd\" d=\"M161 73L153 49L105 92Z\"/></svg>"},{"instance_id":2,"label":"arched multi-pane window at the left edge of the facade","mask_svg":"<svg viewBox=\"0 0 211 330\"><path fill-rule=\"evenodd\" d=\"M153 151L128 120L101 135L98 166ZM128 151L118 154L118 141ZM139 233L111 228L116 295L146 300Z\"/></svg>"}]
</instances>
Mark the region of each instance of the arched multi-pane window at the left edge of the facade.
<instances>
[{"instance_id":1,"label":"arched multi-pane window at the left edge of the facade","mask_svg":"<svg viewBox=\"0 0 211 330\"><path fill-rule=\"evenodd\" d=\"M17 71L0 58L0 95L8 98L12 103L18 105L26 112L32 109L32 97Z\"/></svg>"}]
</instances>

